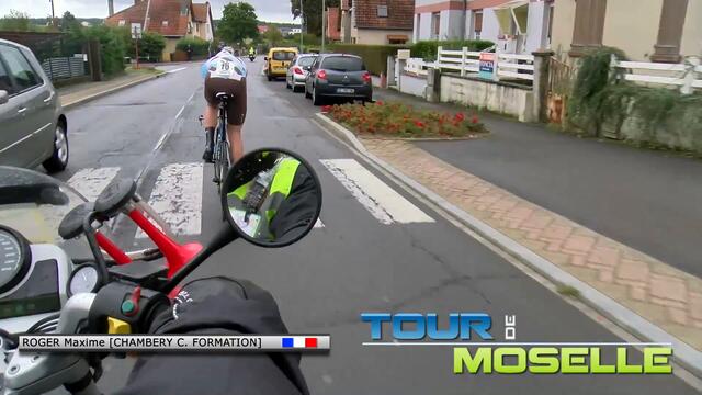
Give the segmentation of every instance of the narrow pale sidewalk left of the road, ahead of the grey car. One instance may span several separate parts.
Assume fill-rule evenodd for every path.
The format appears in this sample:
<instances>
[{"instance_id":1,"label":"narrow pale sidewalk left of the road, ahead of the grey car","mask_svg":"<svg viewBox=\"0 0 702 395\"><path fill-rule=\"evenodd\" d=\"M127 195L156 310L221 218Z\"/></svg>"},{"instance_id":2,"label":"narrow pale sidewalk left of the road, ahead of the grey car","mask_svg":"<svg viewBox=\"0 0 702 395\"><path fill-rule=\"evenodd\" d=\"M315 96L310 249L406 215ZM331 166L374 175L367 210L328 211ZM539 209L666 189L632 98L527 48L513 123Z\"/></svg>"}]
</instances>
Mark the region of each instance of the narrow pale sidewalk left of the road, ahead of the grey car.
<instances>
[{"instance_id":1,"label":"narrow pale sidewalk left of the road, ahead of the grey car","mask_svg":"<svg viewBox=\"0 0 702 395\"><path fill-rule=\"evenodd\" d=\"M128 70L122 76L100 82L83 82L58 89L64 109L70 109L117 90L158 78L162 72L155 69Z\"/></svg>"}]
</instances>

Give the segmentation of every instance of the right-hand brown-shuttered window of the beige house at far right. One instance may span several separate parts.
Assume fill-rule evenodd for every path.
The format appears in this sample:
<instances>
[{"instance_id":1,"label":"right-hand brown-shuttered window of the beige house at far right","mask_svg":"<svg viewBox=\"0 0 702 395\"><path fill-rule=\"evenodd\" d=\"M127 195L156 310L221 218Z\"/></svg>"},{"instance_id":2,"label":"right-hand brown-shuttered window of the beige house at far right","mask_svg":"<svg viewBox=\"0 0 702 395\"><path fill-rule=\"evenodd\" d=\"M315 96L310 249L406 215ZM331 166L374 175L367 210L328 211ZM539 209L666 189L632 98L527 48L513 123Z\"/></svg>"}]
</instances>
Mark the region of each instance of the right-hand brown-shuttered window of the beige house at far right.
<instances>
[{"instance_id":1,"label":"right-hand brown-shuttered window of the beige house at far right","mask_svg":"<svg viewBox=\"0 0 702 395\"><path fill-rule=\"evenodd\" d=\"M656 49L650 56L653 61L679 63L682 26L688 10L688 0L664 0L658 24Z\"/></svg>"}]
</instances>

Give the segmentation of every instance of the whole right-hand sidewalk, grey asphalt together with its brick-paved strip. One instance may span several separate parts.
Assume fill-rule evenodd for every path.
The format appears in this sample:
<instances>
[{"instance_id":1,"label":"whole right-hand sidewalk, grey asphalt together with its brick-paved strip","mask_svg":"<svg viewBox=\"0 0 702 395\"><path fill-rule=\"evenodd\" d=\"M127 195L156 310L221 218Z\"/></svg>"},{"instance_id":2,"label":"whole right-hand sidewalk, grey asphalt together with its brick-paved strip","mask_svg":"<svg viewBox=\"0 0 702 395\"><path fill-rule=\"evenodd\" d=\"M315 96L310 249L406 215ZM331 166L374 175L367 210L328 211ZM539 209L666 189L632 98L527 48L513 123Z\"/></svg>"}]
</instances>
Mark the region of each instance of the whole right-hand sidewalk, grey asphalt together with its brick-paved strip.
<instances>
[{"instance_id":1,"label":"whole right-hand sidewalk, grey asphalt together with its brick-paved strip","mask_svg":"<svg viewBox=\"0 0 702 395\"><path fill-rule=\"evenodd\" d=\"M465 108L451 104L427 103L394 91L376 89L374 93L376 100L403 100L435 111L466 111ZM559 274L554 272L565 272L577 283L586 284L585 290L595 292L587 291L588 295L581 293L580 296L619 325L645 339L660 338L658 335L663 332L648 324L652 323L672 336L668 338L688 345L673 348L677 353L679 349L688 350L687 354L692 358L687 362L692 363L691 368L700 374L702 279L698 275L702 260L698 258L698 246L702 221L691 218L702 218L699 204L702 201L702 187L699 185L702 179L701 163L666 158L660 153L637 150L620 144L578 139L547 131L542 125L521 124L499 116L480 116L491 131L490 136L482 139L419 143L360 138L360 142L365 150L389 165L394 172L408 177L420 188L428 189L451 206L485 224L485 228L490 229L488 232L508 240L500 246L506 251L520 255L520 259L534 258L525 263L542 274L559 282ZM599 155L596 150L600 151ZM578 158L578 155L584 158ZM642 167L641 163L649 160L652 162L648 166ZM605 166L607 161L620 168L612 170ZM667 168L670 162L673 163L671 169L678 172ZM581 179L577 171L573 171L574 168L586 168L593 176ZM614 172L615 177L609 177L607 170ZM479 176L476 174L478 171ZM536 183L537 189L542 190L534 191L530 183ZM642 193L638 190L641 183L653 184L660 191L653 196L638 194ZM678 187L681 189L676 189ZM582 191L590 191L589 198L599 196L596 204L581 204L581 201L571 199L574 194L585 193ZM624 198L613 195L618 193L624 194ZM679 202L680 194L686 193L689 193L684 195L686 201ZM666 201L666 195L671 198ZM660 201L665 201L667 208L661 208ZM548 205L545 206L543 202ZM608 206L608 202L614 203L614 208ZM626 204L633 208L620 210ZM564 216L564 213L567 214ZM608 219L608 216L613 219ZM574 217L577 219L569 219ZM637 228L642 223L638 217L658 224ZM596 226L584 224L580 221L582 218L595 218L590 224ZM663 244L684 234L681 237L687 237L682 244L687 250L682 252L694 258L669 264L667 260L656 259L650 253L642 252L641 248L632 248L629 242L618 241L593 229L600 221L608 224L622 222L621 234L631 236L636 230L637 235L654 235L654 238L663 239ZM660 228L672 235L661 234ZM487 238L495 241L495 238ZM646 237L642 240L645 242ZM661 255L666 252L654 250ZM698 275L673 266L690 269ZM608 312L612 307L611 301L618 305Z\"/></svg>"}]
</instances>

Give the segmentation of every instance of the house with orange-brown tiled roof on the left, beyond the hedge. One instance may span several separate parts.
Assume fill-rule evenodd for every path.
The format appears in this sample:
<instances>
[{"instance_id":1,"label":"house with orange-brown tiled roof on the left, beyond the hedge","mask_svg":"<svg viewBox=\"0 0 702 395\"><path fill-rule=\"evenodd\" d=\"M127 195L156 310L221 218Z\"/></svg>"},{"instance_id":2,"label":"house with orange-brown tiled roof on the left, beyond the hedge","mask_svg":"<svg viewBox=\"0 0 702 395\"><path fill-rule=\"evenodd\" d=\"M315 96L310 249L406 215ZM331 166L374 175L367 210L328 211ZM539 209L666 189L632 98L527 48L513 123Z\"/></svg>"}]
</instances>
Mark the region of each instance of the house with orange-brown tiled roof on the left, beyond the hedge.
<instances>
[{"instance_id":1,"label":"house with orange-brown tiled roof on the left, beyond the hedge","mask_svg":"<svg viewBox=\"0 0 702 395\"><path fill-rule=\"evenodd\" d=\"M195 8L195 5L199 5ZM200 5L207 5L207 11ZM208 20L210 22L197 22ZM212 15L208 3L193 4L192 0L134 0L134 4L105 19L109 26L132 27L139 25L143 31L161 34L166 38L163 60L170 60L177 43L183 37L200 36L206 40L207 23L211 37ZM200 29L203 33L201 35Z\"/></svg>"}]
</instances>

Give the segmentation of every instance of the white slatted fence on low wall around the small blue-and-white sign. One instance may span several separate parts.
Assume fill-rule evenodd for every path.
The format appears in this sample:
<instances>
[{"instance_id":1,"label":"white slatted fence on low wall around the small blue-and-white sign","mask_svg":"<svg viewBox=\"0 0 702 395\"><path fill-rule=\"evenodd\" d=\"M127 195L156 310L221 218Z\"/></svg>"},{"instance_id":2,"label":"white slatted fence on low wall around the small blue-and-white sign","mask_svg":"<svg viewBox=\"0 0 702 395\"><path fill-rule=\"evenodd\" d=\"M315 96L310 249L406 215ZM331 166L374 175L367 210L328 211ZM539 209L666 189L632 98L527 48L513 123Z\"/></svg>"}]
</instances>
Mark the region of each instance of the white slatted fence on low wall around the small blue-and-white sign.
<instances>
[{"instance_id":1,"label":"white slatted fence on low wall around the small blue-and-white sign","mask_svg":"<svg viewBox=\"0 0 702 395\"><path fill-rule=\"evenodd\" d=\"M439 47L437 61L424 61L421 58L409 58L405 64L405 71L415 76L426 76L427 69L439 68L458 72L461 76L476 75L480 71L480 53L468 50L449 50ZM534 56L497 54L494 65L494 80L520 79L534 80Z\"/></svg>"}]
</instances>

